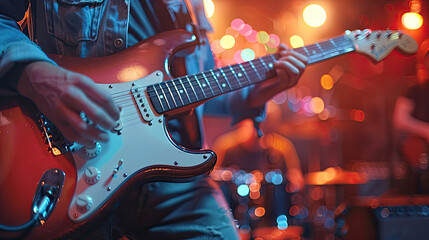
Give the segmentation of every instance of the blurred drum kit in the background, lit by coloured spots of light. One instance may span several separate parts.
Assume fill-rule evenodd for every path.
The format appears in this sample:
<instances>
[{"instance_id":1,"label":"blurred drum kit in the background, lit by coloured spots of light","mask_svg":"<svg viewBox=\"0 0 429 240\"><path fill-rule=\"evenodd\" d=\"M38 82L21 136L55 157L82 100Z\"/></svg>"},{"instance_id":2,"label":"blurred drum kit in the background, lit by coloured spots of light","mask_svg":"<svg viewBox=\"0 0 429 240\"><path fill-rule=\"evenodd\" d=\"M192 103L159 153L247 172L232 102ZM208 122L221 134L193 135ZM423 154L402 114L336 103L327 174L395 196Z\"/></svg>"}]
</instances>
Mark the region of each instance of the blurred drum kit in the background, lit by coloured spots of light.
<instances>
[{"instance_id":1,"label":"blurred drum kit in the background, lit by coloured spots of light","mask_svg":"<svg viewBox=\"0 0 429 240\"><path fill-rule=\"evenodd\" d=\"M332 200L336 188L368 181L364 173L331 167L306 174L305 190L293 192L286 173L279 169L246 172L217 168L211 176L224 192L243 240L335 239L344 235L346 224L335 218L347 206Z\"/></svg>"}]
</instances>

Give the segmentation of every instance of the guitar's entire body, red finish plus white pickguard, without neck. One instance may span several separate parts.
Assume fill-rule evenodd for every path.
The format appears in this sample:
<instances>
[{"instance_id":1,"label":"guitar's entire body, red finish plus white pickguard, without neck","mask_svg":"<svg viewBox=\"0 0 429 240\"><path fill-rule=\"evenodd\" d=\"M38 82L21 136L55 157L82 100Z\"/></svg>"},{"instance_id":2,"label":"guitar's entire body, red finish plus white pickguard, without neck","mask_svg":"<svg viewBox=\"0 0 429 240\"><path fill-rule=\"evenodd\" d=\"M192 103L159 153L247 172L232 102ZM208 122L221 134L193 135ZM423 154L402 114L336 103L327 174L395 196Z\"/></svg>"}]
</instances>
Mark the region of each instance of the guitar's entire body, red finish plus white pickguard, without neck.
<instances>
[{"instance_id":1,"label":"guitar's entire body, red finish plus white pickguard, without neck","mask_svg":"<svg viewBox=\"0 0 429 240\"><path fill-rule=\"evenodd\" d=\"M108 143L99 143L96 154L74 144L69 152L54 156L35 106L22 97L2 98L0 224L16 226L30 219L33 197L46 171L59 169L65 180L45 224L23 232L0 231L0 238L78 236L139 183L184 181L209 171L215 154L177 145L168 133L165 116L153 110L146 92L147 85L170 78L173 54L194 45L188 32L172 31L107 57L51 56L60 66L91 77L122 107L120 127L110 133Z\"/></svg>"}]
</instances>

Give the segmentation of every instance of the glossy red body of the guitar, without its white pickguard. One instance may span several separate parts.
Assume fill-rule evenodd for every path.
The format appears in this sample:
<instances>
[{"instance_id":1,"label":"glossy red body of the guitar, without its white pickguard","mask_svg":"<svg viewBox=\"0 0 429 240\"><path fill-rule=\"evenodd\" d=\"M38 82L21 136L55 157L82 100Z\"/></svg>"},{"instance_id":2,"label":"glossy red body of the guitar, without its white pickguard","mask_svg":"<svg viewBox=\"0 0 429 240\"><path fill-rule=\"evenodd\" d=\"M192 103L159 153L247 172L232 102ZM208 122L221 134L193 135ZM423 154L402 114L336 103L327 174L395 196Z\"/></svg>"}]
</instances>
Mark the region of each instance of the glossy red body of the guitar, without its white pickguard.
<instances>
[{"instance_id":1,"label":"glossy red body of the guitar, without its white pickguard","mask_svg":"<svg viewBox=\"0 0 429 240\"><path fill-rule=\"evenodd\" d=\"M155 71L163 72L164 80L167 80L170 78L167 68L172 56L195 45L196 40L188 32L171 31L156 35L107 57L78 59L51 56L51 58L66 69L89 76L96 83L130 82ZM107 201L102 202L90 217L73 221L69 211L78 180L77 166L72 154L67 152L54 156L49 151L38 121L38 110L29 100L16 96L1 98L0 111L0 206L2 208L0 224L17 226L28 221L32 215L33 196L43 173L48 169L60 169L65 173L61 196L46 222L22 232L0 231L0 239L75 237L77 233L90 228L91 223L96 223L103 217L106 208L109 208L131 186L153 178L184 178L202 174L209 171L215 163L215 156L210 153L211 157L195 168L179 169L175 166L156 164L142 166L142 169L121 183L120 190L115 191ZM158 116L159 114L155 111L154 114L155 117L160 117L156 122L161 122L162 115Z\"/></svg>"}]
</instances>

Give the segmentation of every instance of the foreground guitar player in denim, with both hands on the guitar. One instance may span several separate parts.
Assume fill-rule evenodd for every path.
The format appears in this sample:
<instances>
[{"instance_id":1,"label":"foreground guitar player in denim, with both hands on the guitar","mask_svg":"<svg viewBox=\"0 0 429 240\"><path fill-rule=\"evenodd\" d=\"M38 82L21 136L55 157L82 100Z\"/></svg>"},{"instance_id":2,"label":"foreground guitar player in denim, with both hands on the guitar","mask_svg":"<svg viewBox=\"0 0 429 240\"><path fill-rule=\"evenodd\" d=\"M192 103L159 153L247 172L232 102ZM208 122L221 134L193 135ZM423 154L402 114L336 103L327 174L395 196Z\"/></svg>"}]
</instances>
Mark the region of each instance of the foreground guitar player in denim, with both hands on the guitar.
<instances>
[{"instance_id":1,"label":"foreground guitar player in denim, with both hands on the guitar","mask_svg":"<svg viewBox=\"0 0 429 240\"><path fill-rule=\"evenodd\" d=\"M30 5L29 5L30 3ZM213 68L203 1L190 3L206 44L173 72L187 74ZM32 100L70 141L92 145L108 135L83 121L81 111L103 129L112 129L120 109L88 77L59 67L47 53L99 57L119 52L166 30L190 30L190 11L182 0L2 0L0 2L0 84L2 92ZM17 24L27 9L27 28ZM191 8L192 9L192 8ZM20 28L22 27L22 28ZM24 34L23 32L27 34ZM30 40L31 39L31 40ZM184 119L169 121L173 138L188 148L201 148L202 113L261 119L264 103L294 86L307 58L279 48L278 78L215 98ZM149 57L149 56L148 56ZM186 123L186 124L185 124ZM232 217L216 184L206 176L187 183L144 184L121 199L115 213L88 239L238 239ZM49 220L48 220L49 221Z\"/></svg>"}]
</instances>

